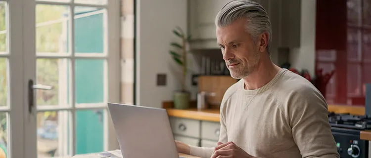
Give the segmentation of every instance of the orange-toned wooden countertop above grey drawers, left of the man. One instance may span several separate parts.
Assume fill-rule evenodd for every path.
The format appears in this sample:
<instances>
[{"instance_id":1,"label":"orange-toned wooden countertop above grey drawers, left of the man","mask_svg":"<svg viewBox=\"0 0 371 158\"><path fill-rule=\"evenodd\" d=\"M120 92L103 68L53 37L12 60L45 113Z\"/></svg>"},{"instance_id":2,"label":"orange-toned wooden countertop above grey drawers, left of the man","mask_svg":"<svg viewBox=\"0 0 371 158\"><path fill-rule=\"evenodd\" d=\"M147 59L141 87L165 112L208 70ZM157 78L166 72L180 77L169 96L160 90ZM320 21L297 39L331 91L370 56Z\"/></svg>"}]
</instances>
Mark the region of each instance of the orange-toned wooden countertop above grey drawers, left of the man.
<instances>
[{"instance_id":1,"label":"orange-toned wooden countertop above grey drawers, left of the man","mask_svg":"<svg viewBox=\"0 0 371 158\"><path fill-rule=\"evenodd\" d=\"M205 110L197 110L197 109L172 109L166 108L168 115L171 117L178 117L178 118L189 118L189 119L199 119L199 120L207 120L207 121L214 121L219 122L219 109L205 109Z\"/></svg>"}]
</instances>

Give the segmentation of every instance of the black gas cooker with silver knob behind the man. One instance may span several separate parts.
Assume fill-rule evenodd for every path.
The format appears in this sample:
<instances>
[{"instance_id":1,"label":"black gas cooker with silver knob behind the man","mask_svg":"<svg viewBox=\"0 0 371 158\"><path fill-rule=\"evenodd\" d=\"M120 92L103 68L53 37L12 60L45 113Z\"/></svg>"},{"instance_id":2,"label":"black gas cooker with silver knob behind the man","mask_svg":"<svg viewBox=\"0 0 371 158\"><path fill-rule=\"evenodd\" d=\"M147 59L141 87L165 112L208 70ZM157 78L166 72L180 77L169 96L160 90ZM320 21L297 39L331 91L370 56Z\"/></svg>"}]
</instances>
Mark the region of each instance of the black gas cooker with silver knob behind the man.
<instances>
[{"instance_id":1,"label":"black gas cooker with silver knob behind the man","mask_svg":"<svg viewBox=\"0 0 371 158\"><path fill-rule=\"evenodd\" d=\"M369 158L369 141L360 133L371 129L370 116L329 113L328 121L340 158Z\"/></svg>"}]
</instances>

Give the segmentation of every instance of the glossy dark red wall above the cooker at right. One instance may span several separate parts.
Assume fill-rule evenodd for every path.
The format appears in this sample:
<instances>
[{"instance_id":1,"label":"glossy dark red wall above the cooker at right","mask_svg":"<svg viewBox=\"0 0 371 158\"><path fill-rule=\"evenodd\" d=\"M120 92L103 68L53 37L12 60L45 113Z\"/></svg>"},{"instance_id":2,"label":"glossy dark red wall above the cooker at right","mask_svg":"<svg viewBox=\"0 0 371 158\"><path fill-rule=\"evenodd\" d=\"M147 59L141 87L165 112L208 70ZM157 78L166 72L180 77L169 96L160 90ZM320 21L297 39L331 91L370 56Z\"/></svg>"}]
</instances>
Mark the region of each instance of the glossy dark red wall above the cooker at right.
<instances>
[{"instance_id":1,"label":"glossy dark red wall above the cooker at right","mask_svg":"<svg viewBox=\"0 0 371 158\"><path fill-rule=\"evenodd\" d=\"M316 69L335 70L326 86L328 104L365 105L370 41L371 0L317 0Z\"/></svg>"}]
</instances>

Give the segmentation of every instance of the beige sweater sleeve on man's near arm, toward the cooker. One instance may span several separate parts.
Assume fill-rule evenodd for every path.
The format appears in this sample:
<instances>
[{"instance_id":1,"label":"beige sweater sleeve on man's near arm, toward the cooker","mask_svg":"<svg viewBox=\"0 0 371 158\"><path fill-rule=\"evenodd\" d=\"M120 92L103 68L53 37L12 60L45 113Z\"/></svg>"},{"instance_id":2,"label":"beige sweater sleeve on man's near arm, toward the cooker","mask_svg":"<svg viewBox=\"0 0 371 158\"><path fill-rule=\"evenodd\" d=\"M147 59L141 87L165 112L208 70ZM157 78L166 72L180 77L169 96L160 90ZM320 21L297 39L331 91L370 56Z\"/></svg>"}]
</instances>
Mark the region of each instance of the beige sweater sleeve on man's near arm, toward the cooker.
<instances>
[{"instance_id":1,"label":"beige sweater sleeve on man's near arm, toward the cooker","mask_svg":"<svg viewBox=\"0 0 371 158\"><path fill-rule=\"evenodd\" d=\"M302 157L339 158L328 122L327 104L321 93L308 88L289 98L289 123Z\"/></svg>"}]
</instances>

